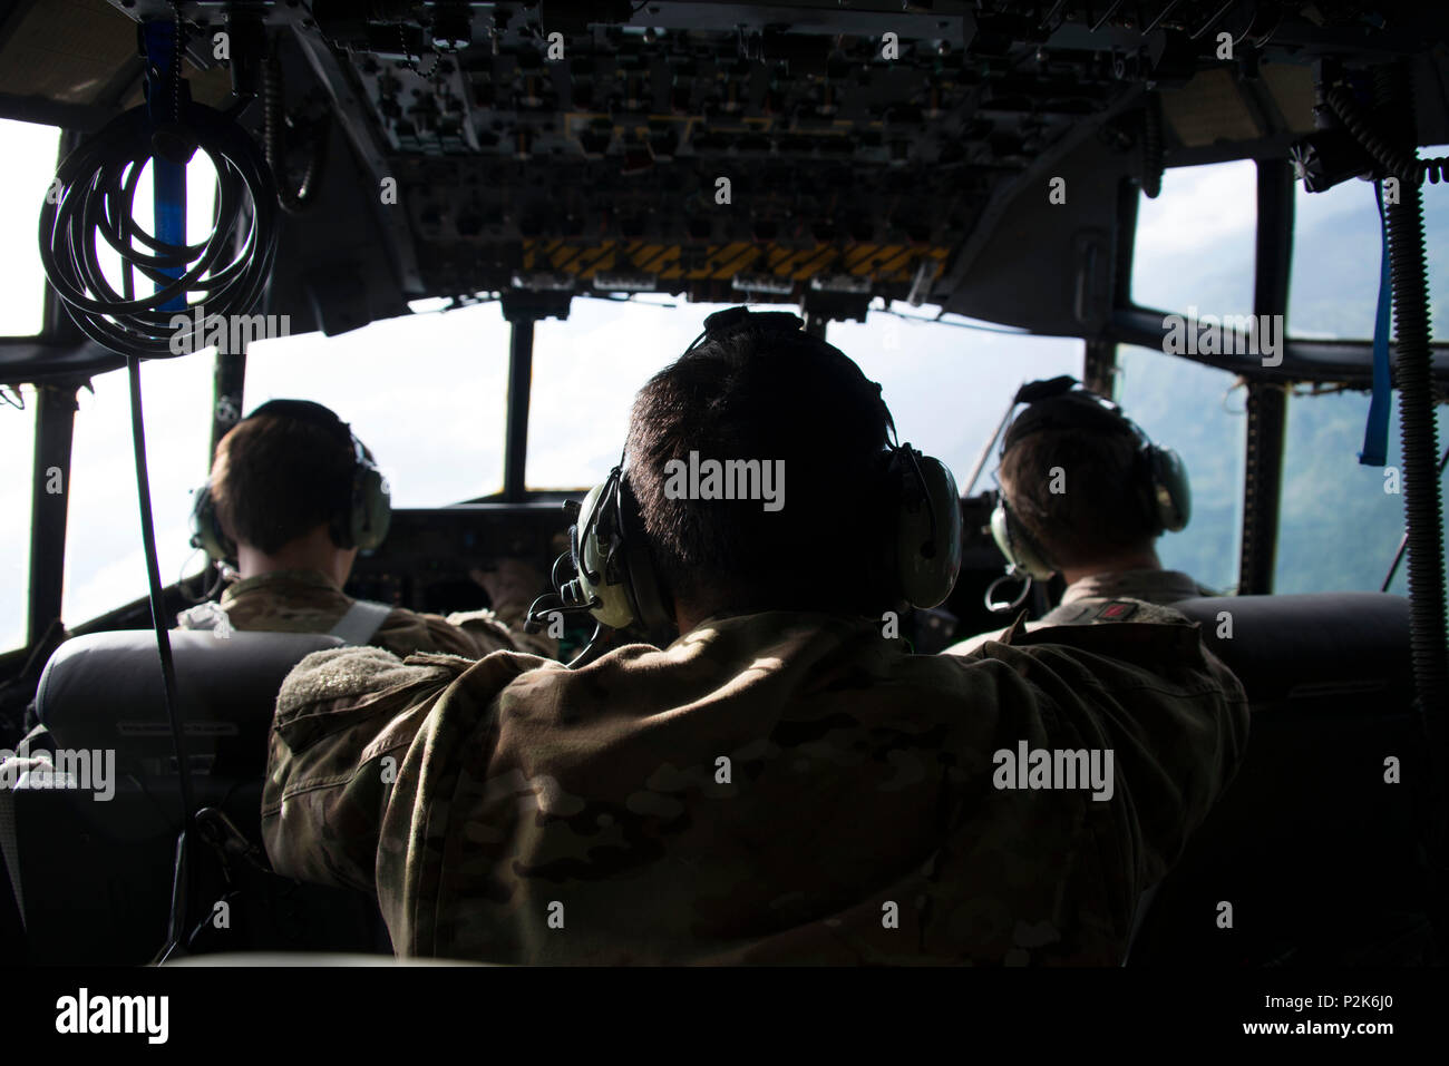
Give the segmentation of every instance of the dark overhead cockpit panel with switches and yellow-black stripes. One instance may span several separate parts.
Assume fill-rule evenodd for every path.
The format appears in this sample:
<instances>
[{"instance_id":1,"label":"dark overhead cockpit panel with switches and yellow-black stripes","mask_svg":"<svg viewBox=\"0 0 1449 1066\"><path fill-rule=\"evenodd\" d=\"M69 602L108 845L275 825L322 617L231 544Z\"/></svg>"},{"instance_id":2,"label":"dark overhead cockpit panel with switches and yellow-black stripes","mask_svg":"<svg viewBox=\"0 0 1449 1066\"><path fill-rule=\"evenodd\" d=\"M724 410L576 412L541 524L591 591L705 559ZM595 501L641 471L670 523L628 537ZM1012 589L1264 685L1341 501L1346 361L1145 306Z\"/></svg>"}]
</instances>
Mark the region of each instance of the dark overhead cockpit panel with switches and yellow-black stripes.
<instances>
[{"instance_id":1,"label":"dark overhead cockpit panel with switches and yellow-black stripes","mask_svg":"<svg viewBox=\"0 0 1449 1066\"><path fill-rule=\"evenodd\" d=\"M151 19L180 20L194 98L255 94L235 113L287 198L316 191L280 290L368 258L367 298L317 316L349 329L652 284L1090 332L1107 304L1066 303L1084 266L1116 277L1132 182L1284 158L1320 61L1408 58L1420 143L1449 140L1449 13L1413 0L17 0L0 114L97 129L139 101Z\"/></svg>"}]
</instances>

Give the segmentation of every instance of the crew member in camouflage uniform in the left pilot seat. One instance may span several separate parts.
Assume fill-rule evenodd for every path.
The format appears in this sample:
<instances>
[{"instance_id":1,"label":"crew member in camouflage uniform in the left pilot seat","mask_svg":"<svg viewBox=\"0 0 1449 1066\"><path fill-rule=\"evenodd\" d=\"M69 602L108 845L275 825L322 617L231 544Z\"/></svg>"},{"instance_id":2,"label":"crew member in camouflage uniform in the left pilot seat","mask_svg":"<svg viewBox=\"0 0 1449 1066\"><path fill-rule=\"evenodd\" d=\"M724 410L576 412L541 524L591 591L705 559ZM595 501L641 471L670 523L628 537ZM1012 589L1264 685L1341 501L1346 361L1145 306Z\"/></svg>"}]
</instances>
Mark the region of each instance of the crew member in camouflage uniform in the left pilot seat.
<instances>
[{"instance_id":1,"label":"crew member in camouflage uniform in the left pilot seat","mask_svg":"<svg viewBox=\"0 0 1449 1066\"><path fill-rule=\"evenodd\" d=\"M236 543L241 575L223 591L220 607L239 630L326 633L354 603L342 585L358 549L339 547L333 526L348 507L355 456L326 424L325 416L336 416L320 404L309 407L319 414L264 411L245 419L216 448L209 491L219 524ZM542 591L542 575L504 559L472 576L488 592L491 610L443 618L397 607L369 643L397 655L446 652L472 659L514 649L558 653L555 640L522 626ZM188 624L185 616L181 624Z\"/></svg>"}]
</instances>

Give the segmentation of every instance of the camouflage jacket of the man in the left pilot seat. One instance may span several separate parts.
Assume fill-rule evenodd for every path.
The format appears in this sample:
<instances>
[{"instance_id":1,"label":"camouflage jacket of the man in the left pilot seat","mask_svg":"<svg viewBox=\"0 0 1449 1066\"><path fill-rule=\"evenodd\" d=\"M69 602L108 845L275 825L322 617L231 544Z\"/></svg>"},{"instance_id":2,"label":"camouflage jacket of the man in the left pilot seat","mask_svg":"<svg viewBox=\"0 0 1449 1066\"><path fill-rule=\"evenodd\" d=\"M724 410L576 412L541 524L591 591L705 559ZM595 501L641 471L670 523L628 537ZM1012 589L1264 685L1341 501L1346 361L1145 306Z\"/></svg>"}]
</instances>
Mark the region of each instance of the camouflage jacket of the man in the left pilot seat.
<instances>
[{"instance_id":1,"label":"camouflage jacket of the man in the left pilot seat","mask_svg":"<svg viewBox=\"0 0 1449 1066\"><path fill-rule=\"evenodd\" d=\"M319 571L272 571L243 578L222 592L222 610L239 630L326 633L346 614L352 598ZM527 604L498 604L493 611L419 614L393 608L369 642L394 655L445 652L481 659L491 652L523 650L554 658L558 642L523 633Z\"/></svg>"}]
</instances>

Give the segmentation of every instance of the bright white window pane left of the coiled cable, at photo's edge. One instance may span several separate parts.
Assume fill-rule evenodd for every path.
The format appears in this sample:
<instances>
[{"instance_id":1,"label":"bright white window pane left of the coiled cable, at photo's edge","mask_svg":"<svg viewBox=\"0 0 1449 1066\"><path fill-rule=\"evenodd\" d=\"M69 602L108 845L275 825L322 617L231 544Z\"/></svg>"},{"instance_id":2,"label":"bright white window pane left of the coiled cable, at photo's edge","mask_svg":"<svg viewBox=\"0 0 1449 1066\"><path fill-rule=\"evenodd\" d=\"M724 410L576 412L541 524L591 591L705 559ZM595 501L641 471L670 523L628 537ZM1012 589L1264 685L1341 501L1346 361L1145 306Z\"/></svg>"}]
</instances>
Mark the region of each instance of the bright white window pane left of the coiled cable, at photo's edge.
<instances>
[{"instance_id":1,"label":"bright white window pane left of the coiled cable, at photo's edge","mask_svg":"<svg viewBox=\"0 0 1449 1066\"><path fill-rule=\"evenodd\" d=\"M0 119L0 336L30 336L45 322L45 271L36 232L55 177L61 130Z\"/></svg>"}]
</instances>

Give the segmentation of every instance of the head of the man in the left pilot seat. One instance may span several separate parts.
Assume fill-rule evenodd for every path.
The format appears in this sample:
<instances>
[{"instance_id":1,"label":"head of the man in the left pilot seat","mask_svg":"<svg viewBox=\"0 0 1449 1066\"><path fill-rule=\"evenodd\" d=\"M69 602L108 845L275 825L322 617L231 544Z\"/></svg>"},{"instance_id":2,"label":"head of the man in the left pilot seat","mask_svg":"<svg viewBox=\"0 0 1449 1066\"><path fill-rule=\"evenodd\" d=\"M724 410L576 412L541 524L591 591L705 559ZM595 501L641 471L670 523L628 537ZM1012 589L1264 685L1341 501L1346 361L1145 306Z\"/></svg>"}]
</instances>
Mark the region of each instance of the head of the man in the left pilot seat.
<instances>
[{"instance_id":1,"label":"head of the man in the left pilot seat","mask_svg":"<svg viewBox=\"0 0 1449 1066\"><path fill-rule=\"evenodd\" d=\"M264 404L217 445L210 495L216 523L243 556L285 563L335 553L319 569L343 576L356 555L352 511L356 445L348 426L322 404ZM385 529L385 488L377 513ZM280 568L268 565L267 569ZM255 569L255 563L252 566Z\"/></svg>"}]
</instances>

